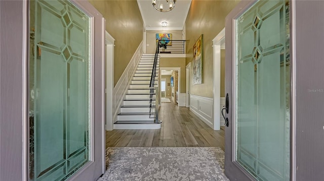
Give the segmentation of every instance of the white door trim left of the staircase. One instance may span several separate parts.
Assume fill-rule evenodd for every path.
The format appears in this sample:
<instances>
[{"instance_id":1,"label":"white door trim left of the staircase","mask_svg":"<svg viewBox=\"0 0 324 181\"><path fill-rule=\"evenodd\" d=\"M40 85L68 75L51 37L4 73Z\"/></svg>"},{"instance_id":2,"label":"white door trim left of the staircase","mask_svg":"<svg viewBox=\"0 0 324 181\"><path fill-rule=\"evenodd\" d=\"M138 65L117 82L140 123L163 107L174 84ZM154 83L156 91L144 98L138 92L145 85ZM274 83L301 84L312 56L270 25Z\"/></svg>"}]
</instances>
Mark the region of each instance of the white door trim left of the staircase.
<instances>
[{"instance_id":1,"label":"white door trim left of the staircase","mask_svg":"<svg viewBox=\"0 0 324 181\"><path fill-rule=\"evenodd\" d=\"M113 49L115 39L106 31L106 130L113 129Z\"/></svg>"}]
</instances>

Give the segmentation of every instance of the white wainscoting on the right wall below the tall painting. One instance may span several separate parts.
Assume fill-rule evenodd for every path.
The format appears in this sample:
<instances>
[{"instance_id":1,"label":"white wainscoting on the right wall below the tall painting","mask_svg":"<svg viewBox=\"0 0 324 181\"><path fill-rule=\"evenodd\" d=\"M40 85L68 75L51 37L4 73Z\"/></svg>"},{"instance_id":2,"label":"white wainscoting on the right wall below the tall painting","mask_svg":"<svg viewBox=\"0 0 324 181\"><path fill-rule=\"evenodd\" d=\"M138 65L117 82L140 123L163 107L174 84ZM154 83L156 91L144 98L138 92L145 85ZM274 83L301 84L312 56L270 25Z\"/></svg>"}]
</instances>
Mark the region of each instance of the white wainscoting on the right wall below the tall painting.
<instances>
[{"instance_id":1,"label":"white wainscoting on the right wall below the tall painting","mask_svg":"<svg viewBox=\"0 0 324 181\"><path fill-rule=\"evenodd\" d=\"M213 98L190 95L190 111L214 129L213 102Z\"/></svg>"}]
</instances>

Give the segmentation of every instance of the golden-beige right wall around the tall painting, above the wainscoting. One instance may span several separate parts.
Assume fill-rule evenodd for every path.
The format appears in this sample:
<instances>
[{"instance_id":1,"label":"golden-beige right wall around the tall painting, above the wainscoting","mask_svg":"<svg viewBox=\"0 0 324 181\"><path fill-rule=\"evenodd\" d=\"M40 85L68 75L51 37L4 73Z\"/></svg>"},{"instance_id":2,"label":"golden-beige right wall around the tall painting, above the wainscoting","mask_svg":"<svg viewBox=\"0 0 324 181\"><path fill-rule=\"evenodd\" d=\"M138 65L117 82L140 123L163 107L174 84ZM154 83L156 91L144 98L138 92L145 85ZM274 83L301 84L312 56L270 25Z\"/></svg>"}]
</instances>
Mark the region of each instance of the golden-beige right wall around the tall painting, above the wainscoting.
<instances>
[{"instance_id":1,"label":"golden-beige right wall around the tall painting, above the wainscoting","mask_svg":"<svg viewBox=\"0 0 324 181\"><path fill-rule=\"evenodd\" d=\"M197 1L192 0L186 19L186 65L192 62L192 47L200 34L203 39L203 83L192 85L191 94L213 97L213 42L212 39L225 27L225 17L239 1ZM192 69L191 64L191 81ZM224 89L221 87L221 90Z\"/></svg>"}]
</instances>

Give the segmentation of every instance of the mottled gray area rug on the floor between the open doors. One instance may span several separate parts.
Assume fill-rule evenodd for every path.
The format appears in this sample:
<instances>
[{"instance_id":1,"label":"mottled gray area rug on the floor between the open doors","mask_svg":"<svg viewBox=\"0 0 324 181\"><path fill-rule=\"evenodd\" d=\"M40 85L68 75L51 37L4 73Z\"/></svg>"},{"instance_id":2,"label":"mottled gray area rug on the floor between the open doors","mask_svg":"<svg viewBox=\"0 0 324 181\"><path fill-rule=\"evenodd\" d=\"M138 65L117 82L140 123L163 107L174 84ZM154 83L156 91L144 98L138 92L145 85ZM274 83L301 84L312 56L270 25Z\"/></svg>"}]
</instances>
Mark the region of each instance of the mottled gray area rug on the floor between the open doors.
<instances>
[{"instance_id":1,"label":"mottled gray area rug on the floor between the open doors","mask_svg":"<svg viewBox=\"0 0 324 181\"><path fill-rule=\"evenodd\" d=\"M107 148L107 180L229 180L215 147Z\"/></svg>"}]
</instances>

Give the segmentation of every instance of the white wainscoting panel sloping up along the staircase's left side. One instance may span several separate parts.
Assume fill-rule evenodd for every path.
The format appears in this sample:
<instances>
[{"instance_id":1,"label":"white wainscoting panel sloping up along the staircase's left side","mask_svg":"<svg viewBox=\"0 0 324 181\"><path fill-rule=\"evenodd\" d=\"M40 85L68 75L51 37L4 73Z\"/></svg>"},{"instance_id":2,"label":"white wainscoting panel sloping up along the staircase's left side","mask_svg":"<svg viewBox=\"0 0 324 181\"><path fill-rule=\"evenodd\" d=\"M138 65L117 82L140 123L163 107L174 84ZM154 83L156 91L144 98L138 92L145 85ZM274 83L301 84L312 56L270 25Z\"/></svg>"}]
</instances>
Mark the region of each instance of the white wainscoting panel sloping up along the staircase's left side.
<instances>
[{"instance_id":1,"label":"white wainscoting panel sloping up along the staircase's left side","mask_svg":"<svg viewBox=\"0 0 324 181\"><path fill-rule=\"evenodd\" d=\"M137 64L141 60L143 54L143 41L139 44L136 52L134 53L130 63L127 65L126 69L124 70L123 74L119 78L116 86L113 89L114 92L114 105L113 105L113 120L117 120L117 113L121 103L123 103L124 96L128 90L128 85L130 84L133 74L137 68Z\"/></svg>"}]
</instances>

